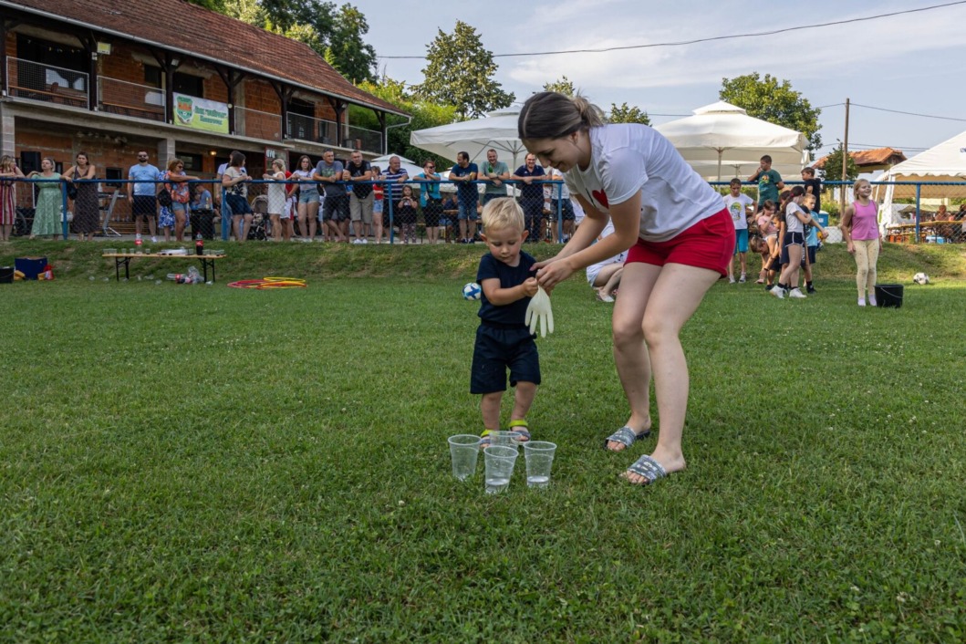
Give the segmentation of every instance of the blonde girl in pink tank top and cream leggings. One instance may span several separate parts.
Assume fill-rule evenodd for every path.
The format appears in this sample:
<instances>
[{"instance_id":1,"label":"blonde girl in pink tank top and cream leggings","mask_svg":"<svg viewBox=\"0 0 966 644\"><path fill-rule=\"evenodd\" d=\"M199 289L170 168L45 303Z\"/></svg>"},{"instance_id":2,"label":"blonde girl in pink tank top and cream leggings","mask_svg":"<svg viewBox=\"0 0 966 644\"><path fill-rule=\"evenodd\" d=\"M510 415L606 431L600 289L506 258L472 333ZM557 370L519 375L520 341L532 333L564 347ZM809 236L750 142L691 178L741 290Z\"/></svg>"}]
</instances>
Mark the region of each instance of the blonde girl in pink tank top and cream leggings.
<instances>
[{"instance_id":1,"label":"blonde girl in pink tank top and cream leggings","mask_svg":"<svg viewBox=\"0 0 966 644\"><path fill-rule=\"evenodd\" d=\"M869 199L872 184L866 179L856 180L852 186L855 201L845 208L842 215L842 238L845 247L855 256L855 285L859 292L859 306L875 306L876 265L879 251L882 250L882 236L879 234L879 208Z\"/></svg>"}]
</instances>

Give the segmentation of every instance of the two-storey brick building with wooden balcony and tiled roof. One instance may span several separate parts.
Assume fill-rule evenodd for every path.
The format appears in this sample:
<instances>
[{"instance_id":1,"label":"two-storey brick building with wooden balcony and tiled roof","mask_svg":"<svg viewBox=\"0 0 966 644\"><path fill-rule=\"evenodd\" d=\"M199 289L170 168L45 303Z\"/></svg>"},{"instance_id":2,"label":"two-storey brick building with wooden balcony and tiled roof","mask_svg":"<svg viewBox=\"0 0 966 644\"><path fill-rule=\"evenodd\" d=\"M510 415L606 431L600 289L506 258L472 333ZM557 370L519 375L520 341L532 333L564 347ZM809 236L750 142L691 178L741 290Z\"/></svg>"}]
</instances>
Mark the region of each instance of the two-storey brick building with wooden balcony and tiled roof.
<instances>
[{"instance_id":1,"label":"two-storey brick building with wooden balcony and tiled roof","mask_svg":"<svg viewBox=\"0 0 966 644\"><path fill-rule=\"evenodd\" d=\"M408 116L307 45L182 0L0 0L0 17L0 149L28 172L80 150L108 179L141 149L209 176L232 150L252 174L327 148L372 157L387 117ZM350 105L381 130L351 124Z\"/></svg>"}]
</instances>

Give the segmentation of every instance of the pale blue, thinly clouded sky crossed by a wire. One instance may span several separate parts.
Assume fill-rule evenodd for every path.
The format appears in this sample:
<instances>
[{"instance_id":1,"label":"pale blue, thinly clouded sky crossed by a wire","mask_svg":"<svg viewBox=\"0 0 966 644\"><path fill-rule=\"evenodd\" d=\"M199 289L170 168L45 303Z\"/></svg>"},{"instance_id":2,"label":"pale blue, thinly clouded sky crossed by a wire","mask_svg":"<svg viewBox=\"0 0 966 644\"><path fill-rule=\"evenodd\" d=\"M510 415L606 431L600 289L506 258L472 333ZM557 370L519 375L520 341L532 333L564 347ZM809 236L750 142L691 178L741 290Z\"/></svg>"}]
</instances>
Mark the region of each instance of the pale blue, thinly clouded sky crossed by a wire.
<instances>
[{"instance_id":1,"label":"pale blue, thinly clouded sky crossed by a wire","mask_svg":"<svg viewBox=\"0 0 966 644\"><path fill-rule=\"evenodd\" d=\"M438 30L452 33L463 20L497 56L495 79L519 102L566 76L605 110L627 102L658 125L718 101L723 78L757 71L788 80L821 108L823 148L816 157L844 137L846 98L849 150L888 146L913 156L966 130L966 2L348 1L366 16L366 41L380 56L380 74L410 84L422 81L427 46ZM857 21L928 7L937 8ZM842 20L850 22L674 46L499 57L720 39ZM391 58L398 56L415 58Z\"/></svg>"}]
</instances>

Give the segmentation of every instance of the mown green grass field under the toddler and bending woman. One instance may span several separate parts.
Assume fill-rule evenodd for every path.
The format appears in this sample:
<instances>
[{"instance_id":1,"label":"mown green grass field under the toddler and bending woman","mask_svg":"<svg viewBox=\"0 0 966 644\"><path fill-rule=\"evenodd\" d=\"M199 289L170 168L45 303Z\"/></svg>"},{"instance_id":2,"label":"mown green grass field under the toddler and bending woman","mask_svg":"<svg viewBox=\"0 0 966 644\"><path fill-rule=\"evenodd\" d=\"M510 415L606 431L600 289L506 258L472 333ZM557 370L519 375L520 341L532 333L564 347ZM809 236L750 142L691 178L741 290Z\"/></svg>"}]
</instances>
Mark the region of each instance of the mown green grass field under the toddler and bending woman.
<instances>
[{"instance_id":1,"label":"mown green grass field under the toddler and bending woman","mask_svg":"<svg viewBox=\"0 0 966 644\"><path fill-rule=\"evenodd\" d=\"M887 246L897 310L855 306L840 246L807 300L716 285L689 469L649 489L619 474L653 436L601 449L611 308L570 280L529 417L553 485L521 459L488 496L445 442L481 429L483 247L226 244L209 287L116 284L108 245L0 246L57 275L0 285L0 641L966 639L959 247ZM265 275L309 287L225 286Z\"/></svg>"}]
</instances>

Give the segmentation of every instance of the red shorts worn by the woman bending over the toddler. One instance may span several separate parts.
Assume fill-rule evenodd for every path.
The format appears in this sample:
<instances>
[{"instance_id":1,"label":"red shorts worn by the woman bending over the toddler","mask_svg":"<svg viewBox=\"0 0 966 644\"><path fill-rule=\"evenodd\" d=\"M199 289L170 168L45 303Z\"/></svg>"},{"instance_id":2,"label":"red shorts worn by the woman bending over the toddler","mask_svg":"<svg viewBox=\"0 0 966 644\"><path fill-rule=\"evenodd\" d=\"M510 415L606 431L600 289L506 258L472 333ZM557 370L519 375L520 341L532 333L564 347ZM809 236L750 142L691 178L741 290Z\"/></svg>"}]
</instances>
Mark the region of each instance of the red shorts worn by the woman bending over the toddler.
<instances>
[{"instance_id":1,"label":"red shorts worn by the woman bending over the toddler","mask_svg":"<svg viewBox=\"0 0 966 644\"><path fill-rule=\"evenodd\" d=\"M627 253L627 264L683 264L727 275L733 254L734 224L727 209L723 209L667 241L638 239Z\"/></svg>"}]
</instances>

